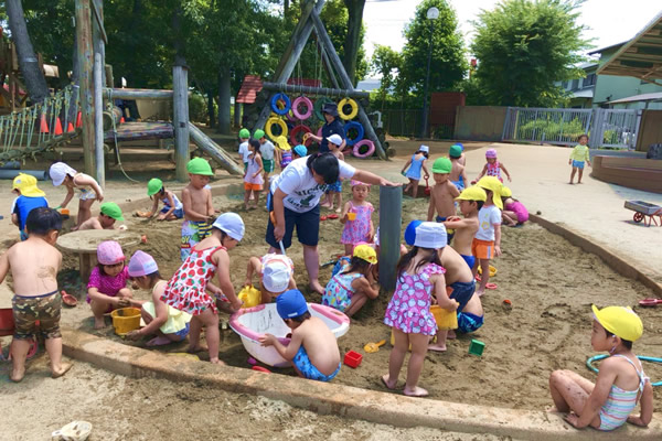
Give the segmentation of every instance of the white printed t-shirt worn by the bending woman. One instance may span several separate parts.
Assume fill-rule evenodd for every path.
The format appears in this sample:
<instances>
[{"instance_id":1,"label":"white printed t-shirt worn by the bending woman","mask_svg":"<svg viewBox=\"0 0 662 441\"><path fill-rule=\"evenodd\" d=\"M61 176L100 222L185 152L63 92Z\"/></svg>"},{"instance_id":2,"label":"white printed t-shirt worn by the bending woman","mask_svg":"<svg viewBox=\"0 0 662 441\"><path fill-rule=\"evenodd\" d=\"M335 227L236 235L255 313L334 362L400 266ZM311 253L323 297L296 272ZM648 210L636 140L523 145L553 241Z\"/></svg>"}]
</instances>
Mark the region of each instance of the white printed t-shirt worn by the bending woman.
<instances>
[{"instance_id":1,"label":"white printed t-shirt worn by the bending woman","mask_svg":"<svg viewBox=\"0 0 662 441\"><path fill-rule=\"evenodd\" d=\"M306 165L308 157L290 162L274 182L273 190L280 189L287 196L282 198L286 208L297 213L310 212L319 203L327 190L327 184L318 184L312 178L312 172ZM338 161L340 179L349 180L356 173L356 169L344 161Z\"/></svg>"}]
</instances>

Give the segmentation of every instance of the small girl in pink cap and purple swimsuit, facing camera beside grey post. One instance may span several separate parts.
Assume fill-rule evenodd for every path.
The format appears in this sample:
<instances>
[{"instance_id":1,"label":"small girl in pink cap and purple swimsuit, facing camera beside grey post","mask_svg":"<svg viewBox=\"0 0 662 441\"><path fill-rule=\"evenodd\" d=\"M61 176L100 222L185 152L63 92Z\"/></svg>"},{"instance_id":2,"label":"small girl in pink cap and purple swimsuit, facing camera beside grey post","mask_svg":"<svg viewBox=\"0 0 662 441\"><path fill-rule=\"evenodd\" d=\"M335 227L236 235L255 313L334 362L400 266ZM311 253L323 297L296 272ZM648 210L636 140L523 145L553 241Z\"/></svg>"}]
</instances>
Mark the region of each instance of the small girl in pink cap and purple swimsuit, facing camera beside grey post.
<instances>
[{"instance_id":1,"label":"small girl in pink cap and purple swimsuit, facing camera beside grey post","mask_svg":"<svg viewBox=\"0 0 662 441\"><path fill-rule=\"evenodd\" d=\"M340 222L344 224L340 243L345 246L345 255L351 255L354 246L361 241L372 241L375 227L372 223L373 205L365 201L370 194L370 185L360 181L352 181L352 200L349 201Z\"/></svg>"}]
</instances>

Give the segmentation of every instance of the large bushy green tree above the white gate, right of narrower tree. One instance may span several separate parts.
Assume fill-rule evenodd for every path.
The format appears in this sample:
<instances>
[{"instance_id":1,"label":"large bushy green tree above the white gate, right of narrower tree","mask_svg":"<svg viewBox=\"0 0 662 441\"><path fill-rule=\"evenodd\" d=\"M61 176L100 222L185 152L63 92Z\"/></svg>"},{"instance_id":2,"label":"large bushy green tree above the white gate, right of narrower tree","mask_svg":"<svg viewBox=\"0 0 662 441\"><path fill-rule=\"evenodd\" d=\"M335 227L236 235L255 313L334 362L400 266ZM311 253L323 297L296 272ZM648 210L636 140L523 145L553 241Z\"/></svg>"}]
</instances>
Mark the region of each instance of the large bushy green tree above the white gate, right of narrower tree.
<instances>
[{"instance_id":1,"label":"large bushy green tree above the white gate, right of narrower tree","mask_svg":"<svg viewBox=\"0 0 662 441\"><path fill-rule=\"evenodd\" d=\"M554 83L576 78L588 47L577 24L583 0L505 0L482 11L471 50L485 104L551 107L563 99Z\"/></svg>"}]
</instances>

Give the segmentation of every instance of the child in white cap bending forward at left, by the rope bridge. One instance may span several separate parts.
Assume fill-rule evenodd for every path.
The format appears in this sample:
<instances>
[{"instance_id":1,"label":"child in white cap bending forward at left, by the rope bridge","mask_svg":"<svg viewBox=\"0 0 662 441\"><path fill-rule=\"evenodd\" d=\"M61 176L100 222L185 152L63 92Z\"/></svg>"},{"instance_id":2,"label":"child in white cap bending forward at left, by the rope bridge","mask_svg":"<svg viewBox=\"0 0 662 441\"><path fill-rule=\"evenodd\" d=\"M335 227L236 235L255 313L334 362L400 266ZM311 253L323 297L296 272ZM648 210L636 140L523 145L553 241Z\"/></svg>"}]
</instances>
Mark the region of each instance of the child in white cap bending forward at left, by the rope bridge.
<instances>
[{"instance_id":1,"label":"child in white cap bending forward at left, by the rope bridge","mask_svg":"<svg viewBox=\"0 0 662 441\"><path fill-rule=\"evenodd\" d=\"M62 184L66 186L66 196L64 196L64 201L62 201L58 208L66 208L72 197L74 197L75 189L81 191L81 194L78 195L79 201L76 226L72 228L72 232L75 232L81 224L92 216L92 204L94 204L95 201L104 201L104 192L94 178L85 173L76 172L64 162L55 162L51 165L49 174L53 180L54 186L60 186Z\"/></svg>"}]
</instances>

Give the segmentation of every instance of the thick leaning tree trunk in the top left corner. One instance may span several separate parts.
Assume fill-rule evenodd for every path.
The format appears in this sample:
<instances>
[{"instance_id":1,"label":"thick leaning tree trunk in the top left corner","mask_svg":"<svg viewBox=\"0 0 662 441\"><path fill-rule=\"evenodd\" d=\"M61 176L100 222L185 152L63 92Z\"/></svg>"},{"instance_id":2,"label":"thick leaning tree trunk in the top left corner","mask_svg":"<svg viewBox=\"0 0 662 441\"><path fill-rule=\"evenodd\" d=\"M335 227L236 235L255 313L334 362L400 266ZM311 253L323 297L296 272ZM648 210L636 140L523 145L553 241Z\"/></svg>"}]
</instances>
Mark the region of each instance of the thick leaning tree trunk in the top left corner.
<instances>
[{"instance_id":1,"label":"thick leaning tree trunk in the top left corner","mask_svg":"<svg viewBox=\"0 0 662 441\"><path fill-rule=\"evenodd\" d=\"M21 0L7 0L4 4L9 19L9 28L11 29L11 37L17 45L19 67L25 80L28 95L32 103L42 103L49 96L49 86L46 86L43 72L39 68L39 61L32 47L30 34L28 34L23 6L21 4Z\"/></svg>"}]
</instances>

